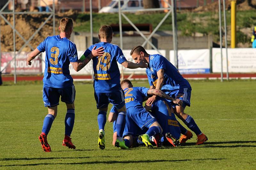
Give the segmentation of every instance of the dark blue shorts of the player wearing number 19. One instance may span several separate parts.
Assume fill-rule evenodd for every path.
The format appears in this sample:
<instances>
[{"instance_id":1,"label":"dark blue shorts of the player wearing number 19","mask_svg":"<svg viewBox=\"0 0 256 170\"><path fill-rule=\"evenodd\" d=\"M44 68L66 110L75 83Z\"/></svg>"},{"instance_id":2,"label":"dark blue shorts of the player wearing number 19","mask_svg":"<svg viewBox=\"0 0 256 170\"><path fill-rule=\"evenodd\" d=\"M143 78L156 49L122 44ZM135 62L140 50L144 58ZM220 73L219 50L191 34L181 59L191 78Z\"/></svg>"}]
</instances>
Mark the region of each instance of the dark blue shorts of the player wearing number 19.
<instances>
[{"instance_id":1,"label":"dark blue shorts of the player wearing number 19","mask_svg":"<svg viewBox=\"0 0 256 170\"><path fill-rule=\"evenodd\" d=\"M111 103L116 107L116 109L120 109L124 107L124 91L120 89L117 92L111 93L97 93L94 92L94 98L96 100L97 109L106 108L108 104Z\"/></svg>"}]
</instances>

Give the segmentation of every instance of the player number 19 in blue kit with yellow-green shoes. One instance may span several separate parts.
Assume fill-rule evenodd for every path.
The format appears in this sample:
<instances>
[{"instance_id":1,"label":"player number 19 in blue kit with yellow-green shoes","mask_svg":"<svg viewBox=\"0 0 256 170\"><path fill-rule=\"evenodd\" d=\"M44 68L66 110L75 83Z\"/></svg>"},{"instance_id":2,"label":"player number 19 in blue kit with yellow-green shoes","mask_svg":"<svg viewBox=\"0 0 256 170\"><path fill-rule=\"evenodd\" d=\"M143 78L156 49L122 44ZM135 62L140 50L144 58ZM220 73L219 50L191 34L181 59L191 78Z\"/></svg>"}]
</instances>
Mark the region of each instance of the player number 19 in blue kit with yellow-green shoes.
<instances>
[{"instance_id":1,"label":"player number 19 in blue kit with yellow-green shoes","mask_svg":"<svg viewBox=\"0 0 256 170\"><path fill-rule=\"evenodd\" d=\"M103 47L104 54L102 56L92 58L94 71L94 97L97 104L99 138L98 146L105 149L105 131L104 127L107 120L108 103L113 104L118 110L116 120L117 139L116 147L128 149L123 141L123 131L125 126L126 108L124 103L124 92L120 86L120 71L117 62L125 68L136 69L146 68L146 63L132 63L126 60L122 50L114 44L111 44L113 31L111 26L103 25L99 30L100 43L91 45L80 58L89 55L93 48Z\"/></svg>"}]
</instances>

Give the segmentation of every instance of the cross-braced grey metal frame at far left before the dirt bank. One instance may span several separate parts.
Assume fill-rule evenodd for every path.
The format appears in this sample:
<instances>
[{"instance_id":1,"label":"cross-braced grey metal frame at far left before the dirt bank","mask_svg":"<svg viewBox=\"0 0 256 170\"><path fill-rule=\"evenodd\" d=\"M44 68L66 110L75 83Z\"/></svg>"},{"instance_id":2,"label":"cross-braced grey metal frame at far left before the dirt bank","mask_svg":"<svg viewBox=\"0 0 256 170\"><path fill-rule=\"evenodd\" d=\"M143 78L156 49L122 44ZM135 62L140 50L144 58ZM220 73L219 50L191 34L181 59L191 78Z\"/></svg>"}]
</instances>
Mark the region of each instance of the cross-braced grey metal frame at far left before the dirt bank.
<instances>
[{"instance_id":1,"label":"cross-braced grey metal frame at far left before the dirt bank","mask_svg":"<svg viewBox=\"0 0 256 170\"><path fill-rule=\"evenodd\" d=\"M47 21L49 21L51 18L52 18L52 26L53 26L53 34L55 35L55 2L53 0L53 3L52 3L52 8L45 3L44 0L40 0L40 1L43 1L44 4L46 5L46 7L49 8L50 12L15 12L15 5L14 5L14 2L15 0L9 0L4 6L2 9L0 9L0 17L4 19L4 21L9 25L11 26L12 30L13 30L13 52L14 52L14 56L12 58L12 60L14 60L14 84L17 83L17 73L16 73L16 55L20 54L20 52L22 51L22 49L26 46L29 46L31 48L31 50L33 51L34 48L29 44L29 42L34 38L34 36L43 28L43 26L47 23ZM3 12L4 9L7 7L8 4L10 4L12 2L12 11L10 12ZM6 15L12 15L13 16L13 24L11 24L5 17L4 17L4 14ZM15 28L15 14L21 14L21 15L30 15L30 14L49 14L49 17L44 21L44 23L42 23L38 29L29 37L28 40L26 40ZM20 38L25 42L23 44L23 46L18 50L16 51L16 45L15 45L15 42L16 42L16 39L15 39L15 34L18 34L20 36ZM41 58L42 59L42 58ZM9 61L7 63L7 65L1 70L1 25L0 25L0 74L3 72L3 70L6 69L6 67L12 62Z\"/></svg>"}]
</instances>

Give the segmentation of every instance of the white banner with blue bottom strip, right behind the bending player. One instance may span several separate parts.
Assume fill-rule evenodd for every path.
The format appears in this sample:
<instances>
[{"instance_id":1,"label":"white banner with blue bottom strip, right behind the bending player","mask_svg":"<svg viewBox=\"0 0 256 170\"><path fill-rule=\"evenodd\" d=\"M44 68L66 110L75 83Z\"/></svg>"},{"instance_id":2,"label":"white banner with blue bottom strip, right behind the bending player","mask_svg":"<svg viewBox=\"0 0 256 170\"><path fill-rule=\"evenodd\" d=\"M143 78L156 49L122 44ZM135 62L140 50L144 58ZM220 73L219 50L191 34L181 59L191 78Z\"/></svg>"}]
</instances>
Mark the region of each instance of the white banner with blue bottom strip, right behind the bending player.
<instances>
[{"instance_id":1,"label":"white banner with blue bottom strip, right behind the bending player","mask_svg":"<svg viewBox=\"0 0 256 170\"><path fill-rule=\"evenodd\" d=\"M170 62L175 66L173 50ZM178 50L178 67L181 74L210 73L209 49Z\"/></svg>"}]
</instances>

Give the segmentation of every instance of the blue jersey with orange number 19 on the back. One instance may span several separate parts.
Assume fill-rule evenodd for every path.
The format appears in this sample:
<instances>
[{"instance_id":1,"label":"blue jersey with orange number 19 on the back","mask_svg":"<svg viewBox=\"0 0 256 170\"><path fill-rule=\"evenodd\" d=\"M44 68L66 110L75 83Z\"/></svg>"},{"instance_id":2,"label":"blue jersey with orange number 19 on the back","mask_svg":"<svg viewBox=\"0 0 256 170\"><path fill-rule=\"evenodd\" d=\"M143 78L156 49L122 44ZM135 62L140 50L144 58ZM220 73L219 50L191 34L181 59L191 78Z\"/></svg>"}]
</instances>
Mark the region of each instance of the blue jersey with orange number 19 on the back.
<instances>
[{"instance_id":1,"label":"blue jersey with orange number 19 on the back","mask_svg":"<svg viewBox=\"0 0 256 170\"><path fill-rule=\"evenodd\" d=\"M91 45L84 52L84 56L88 56L95 46L96 49L103 47L105 52L102 56L92 58L94 71L93 86L95 92L110 93L120 91L120 71L116 61L120 64L127 61L122 50L117 45L100 42Z\"/></svg>"}]
</instances>

